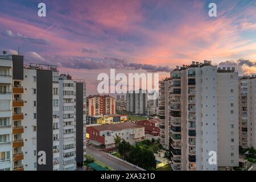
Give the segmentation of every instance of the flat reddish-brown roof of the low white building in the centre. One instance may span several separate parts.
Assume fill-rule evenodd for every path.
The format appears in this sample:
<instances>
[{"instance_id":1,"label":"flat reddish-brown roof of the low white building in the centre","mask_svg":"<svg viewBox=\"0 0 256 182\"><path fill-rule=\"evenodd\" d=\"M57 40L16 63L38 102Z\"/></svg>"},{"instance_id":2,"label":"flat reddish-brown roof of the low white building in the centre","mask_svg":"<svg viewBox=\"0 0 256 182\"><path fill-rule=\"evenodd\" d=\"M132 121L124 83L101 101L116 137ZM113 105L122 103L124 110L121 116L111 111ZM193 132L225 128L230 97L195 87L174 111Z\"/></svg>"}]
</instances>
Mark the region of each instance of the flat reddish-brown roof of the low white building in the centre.
<instances>
[{"instance_id":1,"label":"flat reddish-brown roof of the low white building in the centre","mask_svg":"<svg viewBox=\"0 0 256 182\"><path fill-rule=\"evenodd\" d=\"M143 126L139 126L132 122L125 122L125 123L117 123L117 124L111 124L111 125L98 125L98 126L90 126L98 131L119 131L119 130L125 130L125 129L137 129L142 128Z\"/></svg>"}]
</instances>

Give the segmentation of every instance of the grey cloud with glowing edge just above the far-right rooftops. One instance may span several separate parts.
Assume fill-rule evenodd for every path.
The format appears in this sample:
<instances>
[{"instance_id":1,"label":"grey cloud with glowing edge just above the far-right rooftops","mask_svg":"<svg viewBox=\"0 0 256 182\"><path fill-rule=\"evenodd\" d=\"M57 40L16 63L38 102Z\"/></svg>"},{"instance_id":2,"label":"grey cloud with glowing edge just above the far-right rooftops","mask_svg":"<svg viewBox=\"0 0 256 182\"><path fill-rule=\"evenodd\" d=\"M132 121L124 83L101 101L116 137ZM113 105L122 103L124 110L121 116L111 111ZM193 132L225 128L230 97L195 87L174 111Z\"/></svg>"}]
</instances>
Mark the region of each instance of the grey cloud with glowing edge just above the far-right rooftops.
<instances>
[{"instance_id":1,"label":"grey cloud with glowing edge just above the far-right rooftops","mask_svg":"<svg viewBox=\"0 0 256 182\"><path fill-rule=\"evenodd\" d=\"M251 73L256 68L256 63L251 60L238 59L236 61L222 61L218 63L218 67L234 67L240 76L243 76L247 73Z\"/></svg>"}]
</instances>

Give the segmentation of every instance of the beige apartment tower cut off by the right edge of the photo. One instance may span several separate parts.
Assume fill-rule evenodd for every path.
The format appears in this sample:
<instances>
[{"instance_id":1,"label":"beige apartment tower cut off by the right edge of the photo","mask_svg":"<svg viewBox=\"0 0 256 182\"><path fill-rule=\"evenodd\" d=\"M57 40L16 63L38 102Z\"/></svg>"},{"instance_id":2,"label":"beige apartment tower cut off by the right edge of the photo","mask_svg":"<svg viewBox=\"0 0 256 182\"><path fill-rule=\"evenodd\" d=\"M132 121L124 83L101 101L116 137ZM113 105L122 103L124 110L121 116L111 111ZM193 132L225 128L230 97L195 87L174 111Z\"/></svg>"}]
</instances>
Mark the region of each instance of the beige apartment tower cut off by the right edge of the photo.
<instances>
[{"instance_id":1,"label":"beige apartment tower cut off by the right edge of the photo","mask_svg":"<svg viewBox=\"0 0 256 182\"><path fill-rule=\"evenodd\" d=\"M256 148L256 76L243 76L239 81L239 144Z\"/></svg>"}]
</instances>

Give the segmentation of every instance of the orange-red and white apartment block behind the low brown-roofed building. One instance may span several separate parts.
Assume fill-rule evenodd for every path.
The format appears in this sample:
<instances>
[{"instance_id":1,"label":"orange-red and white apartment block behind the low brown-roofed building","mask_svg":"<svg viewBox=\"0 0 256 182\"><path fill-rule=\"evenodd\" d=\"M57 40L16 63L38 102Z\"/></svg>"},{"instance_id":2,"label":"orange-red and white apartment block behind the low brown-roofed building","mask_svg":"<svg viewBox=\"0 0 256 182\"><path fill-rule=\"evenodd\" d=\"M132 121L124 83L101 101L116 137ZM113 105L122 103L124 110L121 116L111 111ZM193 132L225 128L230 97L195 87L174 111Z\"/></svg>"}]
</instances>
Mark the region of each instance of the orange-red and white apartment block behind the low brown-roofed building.
<instances>
[{"instance_id":1,"label":"orange-red and white apartment block behind the low brown-roofed building","mask_svg":"<svg viewBox=\"0 0 256 182\"><path fill-rule=\"evenodd\" d=\"M115 114L115 98L111 96L94 95L86 98L87 115Z\"/></svg>"}]
</instances>

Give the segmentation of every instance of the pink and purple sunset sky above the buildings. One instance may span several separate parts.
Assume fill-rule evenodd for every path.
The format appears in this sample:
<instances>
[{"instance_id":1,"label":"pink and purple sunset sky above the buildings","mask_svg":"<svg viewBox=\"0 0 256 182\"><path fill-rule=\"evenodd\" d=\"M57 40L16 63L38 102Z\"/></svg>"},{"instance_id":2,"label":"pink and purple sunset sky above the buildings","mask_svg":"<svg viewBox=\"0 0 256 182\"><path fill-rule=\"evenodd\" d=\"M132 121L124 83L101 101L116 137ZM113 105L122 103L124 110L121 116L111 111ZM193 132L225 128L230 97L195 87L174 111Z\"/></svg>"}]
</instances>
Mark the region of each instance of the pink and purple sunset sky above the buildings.
<instances>
[{"instance_id":1,"label":"pink and purple sunset sky above the buildings","mask_svg":"<svg viewBox=\"0 0 256 182\"><path fill-rule=\"evenodd\" d=\"M38 4L46 3L46 17ZM209 3L217 5L210 17ZM0 0L0 50L58 66L97 94L97 76L159 73L212 60L256 73L256 1Z\"/></svg>"}]
</instances>

